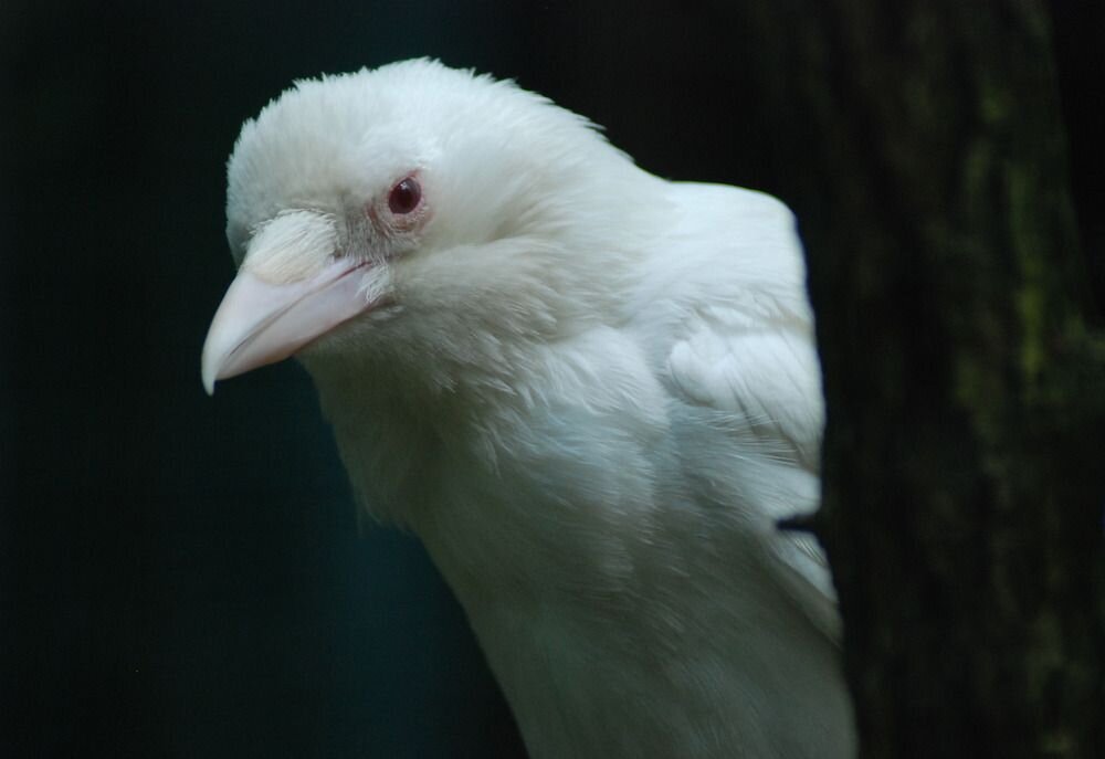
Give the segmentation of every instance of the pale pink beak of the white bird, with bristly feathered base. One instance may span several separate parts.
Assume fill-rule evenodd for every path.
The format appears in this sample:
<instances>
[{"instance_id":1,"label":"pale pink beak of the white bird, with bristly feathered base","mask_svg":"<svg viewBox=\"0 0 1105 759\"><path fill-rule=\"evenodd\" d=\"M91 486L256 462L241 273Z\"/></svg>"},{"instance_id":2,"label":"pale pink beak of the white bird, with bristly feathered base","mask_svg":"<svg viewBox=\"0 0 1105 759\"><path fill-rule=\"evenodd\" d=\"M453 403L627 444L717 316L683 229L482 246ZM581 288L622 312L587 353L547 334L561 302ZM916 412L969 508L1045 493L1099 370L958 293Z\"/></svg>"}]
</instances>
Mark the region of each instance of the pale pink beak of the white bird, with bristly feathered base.
<instances>
[{"instance_id":1,"label":"pale pink beak of the white bird, with bristly feathered base","mask_svg":"<svg viewBox=\"0 0 1105 759\"><path fill-rule=\"evenodd\" d=\"M318 250L290 254L290 246L318 240L302 230L288 234L280 218L273 222L281 223L285 229L254 238L211 320L201 366L209 396L217 380L281 361L373 305L361 288L364 262L329 255L320 268L290 278L287 271L302 274L303 261L320 257Z\"/></svg>"}]
</instances>

